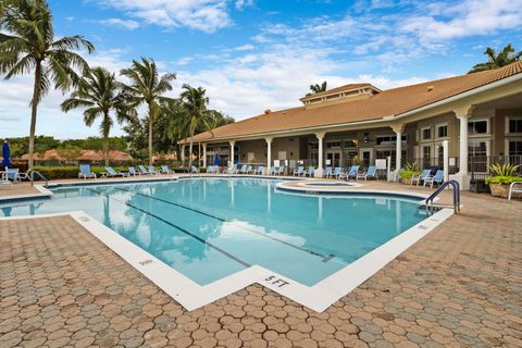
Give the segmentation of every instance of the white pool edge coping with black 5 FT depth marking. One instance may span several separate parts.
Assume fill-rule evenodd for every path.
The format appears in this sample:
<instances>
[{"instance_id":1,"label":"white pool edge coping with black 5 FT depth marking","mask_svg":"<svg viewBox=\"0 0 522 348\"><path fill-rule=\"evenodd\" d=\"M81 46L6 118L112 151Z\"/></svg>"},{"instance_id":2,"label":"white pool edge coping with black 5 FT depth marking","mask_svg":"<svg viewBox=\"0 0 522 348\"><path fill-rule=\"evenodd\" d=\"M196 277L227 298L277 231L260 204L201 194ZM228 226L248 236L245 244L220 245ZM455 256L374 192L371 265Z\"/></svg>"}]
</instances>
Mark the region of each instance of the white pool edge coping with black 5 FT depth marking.
<instances>
[{"instance_id":1,"label":"white pool edge coping with black 5 FT depth marking","mask_svg":"<svg viewBox=\"0 0 522 348\"><path fill-rule=\"evenodd\" d=\"M219 177L225 176L220 175ZM98 182L97 184L102 185L103 183ZM375 192L377 192L377 190L375 190ZM386 195L387 191L381 190L378 192ZM359 194L364 195L363 191L359 191ZM389 194L393 195L395 192L390 191ZM401 196L408 195L401 192ZM419 198L419 196L426 197L425 195L415 194L415 198ZM40 196L36 198L39 197ZM202 286L125 239L115 231L107 227L84 211L10 216L0 217L0 220L41 219L69 215L188 311L198 309L253 283L258 283L311 310L323 312L338 299L348 295L374 275L397 256L426 236L452 214L453 211L451 209L439 210L313 286L300 284L260 265L252 265Z\"/></svg>"}]
</instances>

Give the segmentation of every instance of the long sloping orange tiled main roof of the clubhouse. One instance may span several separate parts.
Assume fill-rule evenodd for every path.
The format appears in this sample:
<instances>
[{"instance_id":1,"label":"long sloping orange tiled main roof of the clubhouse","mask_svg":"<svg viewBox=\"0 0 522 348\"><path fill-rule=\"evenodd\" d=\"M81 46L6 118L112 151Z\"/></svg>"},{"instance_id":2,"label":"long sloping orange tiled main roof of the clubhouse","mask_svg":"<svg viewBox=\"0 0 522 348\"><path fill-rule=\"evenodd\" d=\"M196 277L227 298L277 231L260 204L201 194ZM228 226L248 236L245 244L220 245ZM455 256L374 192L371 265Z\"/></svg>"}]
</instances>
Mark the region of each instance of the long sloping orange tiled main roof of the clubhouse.
<instances>
[{"instance_id":1,"label":"long sloping orange tiled main roof of the clubhouse","mask_svg":"<svg viewBox=\"0 0 522 348\"><path fill-rule=\"evenodd\" d=\"M497 70L393 88L365 99L313 109L298 107L274 111L217 127L212 134L210 132L198 134L194 139L195 141L228 139L400 115L521 73L522 62L517 62Z\"/></svg>"}]
</instances>

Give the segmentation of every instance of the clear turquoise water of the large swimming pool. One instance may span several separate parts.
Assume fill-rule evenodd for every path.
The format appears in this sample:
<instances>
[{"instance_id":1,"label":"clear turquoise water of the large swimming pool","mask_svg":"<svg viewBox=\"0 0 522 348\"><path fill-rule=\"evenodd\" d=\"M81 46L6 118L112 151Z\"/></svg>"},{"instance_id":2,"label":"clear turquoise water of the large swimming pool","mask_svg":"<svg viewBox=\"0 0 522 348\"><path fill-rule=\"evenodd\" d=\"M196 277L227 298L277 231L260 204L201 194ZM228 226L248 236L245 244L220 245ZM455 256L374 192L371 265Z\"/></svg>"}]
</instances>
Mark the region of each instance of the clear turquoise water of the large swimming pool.
<instances>
[{"instance_id":1,"label":"clear turquoise water of the large swimming pool","mask_svg":"<svg viewBox=\"0 0 522 348\"><path fill-rule=\"evenodd\" d=\"M299 196L276 181L197 178L54 188L0 206L15 216L83 210L206 285L259 264L313 285L422 221L418 200Z\"/></svg>"}]
</instances>

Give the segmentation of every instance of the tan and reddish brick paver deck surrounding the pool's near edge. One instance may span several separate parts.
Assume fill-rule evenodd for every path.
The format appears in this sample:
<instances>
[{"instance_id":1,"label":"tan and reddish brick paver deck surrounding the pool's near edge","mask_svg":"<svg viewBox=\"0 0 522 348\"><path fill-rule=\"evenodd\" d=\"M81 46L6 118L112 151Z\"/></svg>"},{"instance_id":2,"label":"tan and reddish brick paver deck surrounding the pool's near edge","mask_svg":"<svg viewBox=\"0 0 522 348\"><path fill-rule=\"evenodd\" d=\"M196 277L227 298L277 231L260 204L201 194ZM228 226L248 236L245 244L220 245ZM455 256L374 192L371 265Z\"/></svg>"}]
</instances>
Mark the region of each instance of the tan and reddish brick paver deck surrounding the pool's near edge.
<instances>
[{"instance_id":1,"label":"tan and reddish brick paver deck surrounding the pool's near edge","mask_svg":"<svg viewBox=\"0 0 522 348\"><path fill-rule=\"evenodd\" d=\"M323 313L260 285L187 312L69 216L0 220L0 347L522 347L522 203L463 204Z\"/></svg>"}]
</instances>

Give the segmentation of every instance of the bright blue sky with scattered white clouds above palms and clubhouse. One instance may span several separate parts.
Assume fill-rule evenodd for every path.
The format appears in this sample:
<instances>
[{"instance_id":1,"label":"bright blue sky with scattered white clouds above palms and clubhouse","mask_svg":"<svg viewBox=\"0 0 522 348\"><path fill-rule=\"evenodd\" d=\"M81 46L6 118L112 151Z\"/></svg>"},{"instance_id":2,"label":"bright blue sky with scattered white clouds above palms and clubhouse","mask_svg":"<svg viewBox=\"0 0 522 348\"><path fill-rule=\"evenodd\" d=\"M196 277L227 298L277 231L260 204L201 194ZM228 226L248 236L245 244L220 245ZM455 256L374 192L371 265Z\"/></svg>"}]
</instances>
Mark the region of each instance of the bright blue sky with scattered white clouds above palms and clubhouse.
<instances>
[{"instance_id":1,"label":"bright blue sky with scattered white clouds above palms and clubhouse","mask_svg":"<svg viewBox=\"0 0 522 348\"><path fill-rule=\"evenodd\" d=\"M522 0L50 0L57 38L83 35L85 58L113 72L152 58L161 73L203 87L235 120L297 107L311 84L381 89L465 74L486 47L522 50ZM26 136L33 77L0 82L0 138ZM98 135L51 91L37 134ZM115 126L112 135L122 135Z\"/></svg>"}]
</instances>

